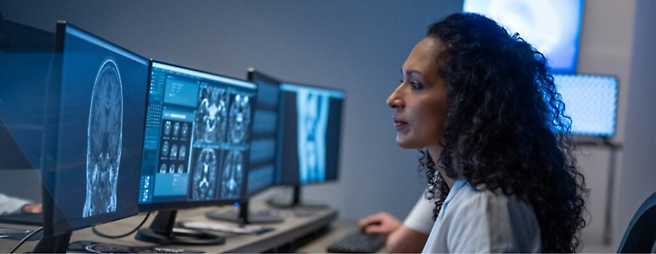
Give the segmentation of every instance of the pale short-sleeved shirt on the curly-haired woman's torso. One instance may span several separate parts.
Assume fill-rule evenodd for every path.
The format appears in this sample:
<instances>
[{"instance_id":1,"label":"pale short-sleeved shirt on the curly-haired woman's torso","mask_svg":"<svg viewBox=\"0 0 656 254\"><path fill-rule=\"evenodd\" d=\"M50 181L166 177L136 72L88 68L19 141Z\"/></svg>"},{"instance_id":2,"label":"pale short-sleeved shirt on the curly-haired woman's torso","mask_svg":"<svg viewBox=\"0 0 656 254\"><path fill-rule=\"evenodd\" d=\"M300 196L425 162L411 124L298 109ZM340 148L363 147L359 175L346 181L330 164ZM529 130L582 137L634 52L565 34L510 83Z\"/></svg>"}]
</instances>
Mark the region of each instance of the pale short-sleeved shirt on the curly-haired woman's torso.
<instances>
[{"instance_id":1,"label":"pale short-sleeved shirt on the curly-haired woman's torso","mask_svg":"<svg viewBox=\"0 0 656 254\"><path fill-rule=\"evenodd\" d=\"M457 180L423 253L541 252L533 208L512 196L479 191Z\"/></svg>"}]
</instances>

